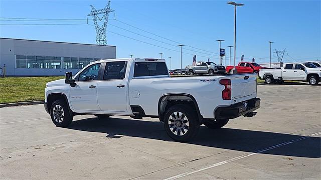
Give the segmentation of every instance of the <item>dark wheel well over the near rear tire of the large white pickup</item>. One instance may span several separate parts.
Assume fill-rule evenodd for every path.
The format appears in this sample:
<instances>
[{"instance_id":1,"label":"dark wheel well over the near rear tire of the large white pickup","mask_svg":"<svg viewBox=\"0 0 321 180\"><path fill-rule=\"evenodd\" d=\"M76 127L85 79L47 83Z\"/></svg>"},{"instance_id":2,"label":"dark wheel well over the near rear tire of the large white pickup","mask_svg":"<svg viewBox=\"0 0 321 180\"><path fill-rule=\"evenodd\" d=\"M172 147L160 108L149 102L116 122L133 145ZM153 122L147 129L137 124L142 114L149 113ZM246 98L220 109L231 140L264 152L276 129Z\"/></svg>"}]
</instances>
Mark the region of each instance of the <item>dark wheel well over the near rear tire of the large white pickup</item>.
<instances>
[{"instance_id":1,"label":"dark wheel well over the near rear tire of the large white pickup","mask_svg":"<svg viewBox=\"0 0 321 180\"><path fill-rule=\"evenodd\" d=\"M203 117L200 113L200 109L197 105L197 102L195 98L189 94L167 94L159 98L159 101L158 101L159 120L163 121L164 114L167 111L167 109L177 104L189 105L191 108L193 108L196 111L199 117L199 121L202 122Z\"/></svg>"}]
</instances>

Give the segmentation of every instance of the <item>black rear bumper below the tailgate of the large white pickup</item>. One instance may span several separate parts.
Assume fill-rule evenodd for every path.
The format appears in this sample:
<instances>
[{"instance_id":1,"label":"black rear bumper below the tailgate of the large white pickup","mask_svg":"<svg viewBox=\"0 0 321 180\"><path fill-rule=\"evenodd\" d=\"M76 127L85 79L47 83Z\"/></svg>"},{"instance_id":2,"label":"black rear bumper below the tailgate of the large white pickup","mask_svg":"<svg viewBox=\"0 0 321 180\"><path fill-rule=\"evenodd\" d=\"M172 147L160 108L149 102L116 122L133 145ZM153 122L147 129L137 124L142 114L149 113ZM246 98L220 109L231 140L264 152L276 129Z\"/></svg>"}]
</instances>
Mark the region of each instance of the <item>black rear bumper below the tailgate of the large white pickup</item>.
<instances>
[{"instance_id":1,"label":"black rear bumper below the tailgate of the large white pickup","mask_svg":"<svg viewBox=\"0 0 321 180\"><path fill-rule=\"evenodd\" d=\"M215 119L234 119L244 114L253 112L260 108L259 98L253 98L247 101L239 102L227 107L218 107L215 112ZM245 104L247 103L247 107Z\"/></svg>"}]
</instances>

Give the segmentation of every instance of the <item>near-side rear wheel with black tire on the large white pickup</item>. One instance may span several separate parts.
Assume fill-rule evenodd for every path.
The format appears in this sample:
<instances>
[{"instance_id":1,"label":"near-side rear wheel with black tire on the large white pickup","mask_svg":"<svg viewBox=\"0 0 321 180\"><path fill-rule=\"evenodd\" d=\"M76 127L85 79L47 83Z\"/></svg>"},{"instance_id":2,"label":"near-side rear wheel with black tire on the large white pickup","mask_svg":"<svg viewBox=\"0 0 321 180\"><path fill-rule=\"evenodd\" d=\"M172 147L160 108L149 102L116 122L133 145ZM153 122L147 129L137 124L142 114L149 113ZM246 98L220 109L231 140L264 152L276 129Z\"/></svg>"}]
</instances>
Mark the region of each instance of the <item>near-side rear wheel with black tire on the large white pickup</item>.
<instances>
[{"instance_id":1,"label":"near-side rear wheel with black tire on the large white pickup","mask_svg":"<svg viewBox=\"0 0 321 180\"><path fill-rule=\"evenodd\" d=\"M174 114L175 112L176 114ZM181 114L179 113L179 115L177 115L177 112L180 112ZM182 117L183 119L181 119ZM167 134L172 139L179 142L186 142L196 136L200 128L200 122L194 109L188 105L178 104L170 107L165 112L164 127Z\"/></svg>"}]
</instances>

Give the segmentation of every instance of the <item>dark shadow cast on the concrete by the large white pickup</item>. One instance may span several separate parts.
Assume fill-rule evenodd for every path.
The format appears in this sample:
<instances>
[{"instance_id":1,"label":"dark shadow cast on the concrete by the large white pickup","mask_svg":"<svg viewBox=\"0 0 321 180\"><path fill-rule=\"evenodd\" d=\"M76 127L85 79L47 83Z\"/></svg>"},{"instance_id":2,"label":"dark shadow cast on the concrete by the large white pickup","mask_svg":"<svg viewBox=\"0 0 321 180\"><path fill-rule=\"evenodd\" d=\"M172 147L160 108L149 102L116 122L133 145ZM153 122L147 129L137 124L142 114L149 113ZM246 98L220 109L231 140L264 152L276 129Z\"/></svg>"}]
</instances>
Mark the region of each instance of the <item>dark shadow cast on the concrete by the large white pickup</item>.
<instances>
[{"instance_id":1,"label":"dark shadow cast on the concrete by the large white pickup","mask_svg":"<svg viewBox=\"0 0 321 180\"><path fill-rule=\"evenodd\" d=\"M167 135L163 123L159 121L144 121L112 117L106 119L88 118L76 120L67 128L87 132L106 133L106 138L131 136L173 141ZM205 126L201 126L195 139L187 143L244 152L256 152L258 150L302 137L305 136L232 128L209 129ZM321 138L308 137L262 153L319 158L321 157Z\"/></svg>"}]
</instances>

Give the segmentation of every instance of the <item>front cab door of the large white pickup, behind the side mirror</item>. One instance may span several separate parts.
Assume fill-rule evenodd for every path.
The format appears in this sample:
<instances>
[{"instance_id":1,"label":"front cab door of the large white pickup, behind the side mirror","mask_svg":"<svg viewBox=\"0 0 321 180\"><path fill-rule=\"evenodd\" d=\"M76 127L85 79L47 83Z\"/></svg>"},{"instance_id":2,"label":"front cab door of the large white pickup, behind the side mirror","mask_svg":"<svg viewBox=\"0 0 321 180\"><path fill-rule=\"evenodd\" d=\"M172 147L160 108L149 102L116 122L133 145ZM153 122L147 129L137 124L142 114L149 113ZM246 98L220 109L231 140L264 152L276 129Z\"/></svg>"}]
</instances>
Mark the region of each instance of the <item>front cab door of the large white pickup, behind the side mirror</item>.
<instances>
[{"instance_id":1,"label":"front cab door of the large white pickup, behind the side mirror","mask_svg":"<svg viewBox=\"0 0 321 180\"><path fill-rule=\"evenodd\" d=\"M97 84L100 63L83 70L75 79L76 86L69 87L69 99L76 112L99 111Z\"/></svg>"}]
</instances>

